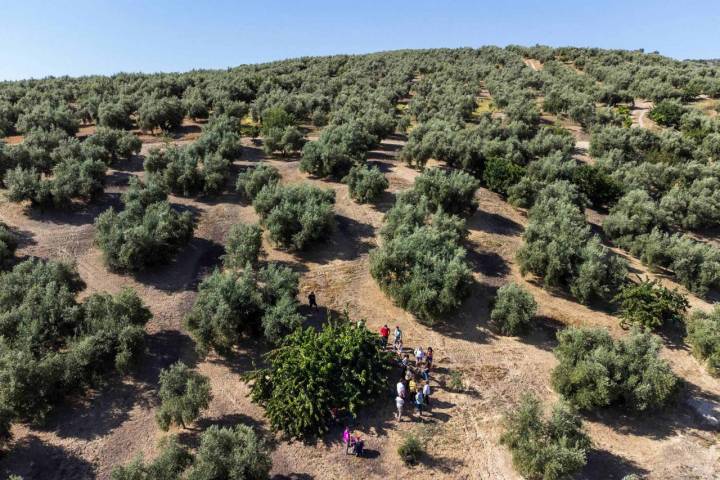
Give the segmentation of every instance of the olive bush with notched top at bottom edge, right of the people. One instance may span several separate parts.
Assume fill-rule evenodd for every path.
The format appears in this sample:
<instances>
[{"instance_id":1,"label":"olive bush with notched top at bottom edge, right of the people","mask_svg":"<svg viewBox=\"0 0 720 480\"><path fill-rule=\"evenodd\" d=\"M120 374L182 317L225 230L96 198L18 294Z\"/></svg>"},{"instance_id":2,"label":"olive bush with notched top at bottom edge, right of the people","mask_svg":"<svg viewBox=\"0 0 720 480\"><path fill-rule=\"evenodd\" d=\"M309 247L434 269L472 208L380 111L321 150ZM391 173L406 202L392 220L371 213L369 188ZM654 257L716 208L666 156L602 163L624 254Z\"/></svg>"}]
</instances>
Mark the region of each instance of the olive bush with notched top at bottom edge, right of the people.
<instances>
[{"instance_id":1,"label":"olive bush with notched top at bottom edge, right of the people","mask_svg":"<svg viewBox=\"0 0 720 480\"><path fill-rule=\"evenodd\" d=\"M590 438L580 417L562 403L544 419L540 402L526 394L504 423L500 441L508 446L515 469L524 477L554 480L585 466Z\"/></svg>"}]
</instances>

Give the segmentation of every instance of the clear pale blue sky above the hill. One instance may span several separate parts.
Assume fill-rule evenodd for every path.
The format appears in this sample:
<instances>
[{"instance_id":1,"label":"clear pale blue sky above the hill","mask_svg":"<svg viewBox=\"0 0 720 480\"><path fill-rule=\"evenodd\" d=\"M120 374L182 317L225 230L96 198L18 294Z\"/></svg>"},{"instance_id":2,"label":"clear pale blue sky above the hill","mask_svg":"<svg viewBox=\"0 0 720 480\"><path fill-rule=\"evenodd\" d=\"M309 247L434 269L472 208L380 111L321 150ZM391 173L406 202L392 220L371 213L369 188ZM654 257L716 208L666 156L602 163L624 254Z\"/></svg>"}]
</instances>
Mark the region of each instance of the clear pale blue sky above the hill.
<instances>
[{"instance_id":1,"label":"clear pale blue sky above the hill","mask_svg":"<svg viewBox=\"0 0 720 480\"><path fill-rule=\"evenodd\" d=\"M536 43L720 57L720 1L0 0L0 79Z\"/></svg>"}]
</instances>

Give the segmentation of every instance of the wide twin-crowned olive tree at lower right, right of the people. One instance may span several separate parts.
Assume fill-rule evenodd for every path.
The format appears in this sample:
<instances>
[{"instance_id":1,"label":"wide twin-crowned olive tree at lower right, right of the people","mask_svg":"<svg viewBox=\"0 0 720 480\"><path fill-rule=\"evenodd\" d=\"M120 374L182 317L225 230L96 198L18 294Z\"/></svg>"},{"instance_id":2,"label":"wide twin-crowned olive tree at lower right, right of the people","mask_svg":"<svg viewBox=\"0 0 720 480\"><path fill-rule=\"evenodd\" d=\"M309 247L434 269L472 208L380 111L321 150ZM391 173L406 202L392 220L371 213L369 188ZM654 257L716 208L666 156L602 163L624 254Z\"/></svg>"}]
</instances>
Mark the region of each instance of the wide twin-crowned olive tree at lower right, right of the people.
<instances>
[{"instance_id":1,"label":"wide twin-crowned olive tree at lower right, right of the people","mask_svg":"<svg viewBox=\"0 0 720 480\"><path fill-rule=\"evenodd\" d=\"M677 377L659 357L661 342L650 333L613 340L604 329L568 328L558 332L558 342L553 387L580 409L658 409L677 391Z\"/></svg>"}]
</instances>

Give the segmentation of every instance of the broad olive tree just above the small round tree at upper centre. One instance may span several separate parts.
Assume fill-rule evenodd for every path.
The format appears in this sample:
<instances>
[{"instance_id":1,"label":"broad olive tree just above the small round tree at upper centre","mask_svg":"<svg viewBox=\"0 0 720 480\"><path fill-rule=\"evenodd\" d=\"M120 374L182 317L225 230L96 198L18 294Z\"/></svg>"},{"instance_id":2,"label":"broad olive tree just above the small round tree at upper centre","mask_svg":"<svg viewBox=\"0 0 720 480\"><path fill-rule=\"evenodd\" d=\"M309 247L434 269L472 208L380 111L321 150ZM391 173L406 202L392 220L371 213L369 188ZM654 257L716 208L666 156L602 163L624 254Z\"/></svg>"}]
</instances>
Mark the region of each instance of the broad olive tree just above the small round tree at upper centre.
<instances>
[{"instance_id":1,"label":"broad olive tree just above the small round tree at upper centre","mask_svg":"<svg viewBox=\"0 0 720 480\"><path fill-rule=\"evenodd\" d=\"M300 170L317 177L342 178L353 165L365 162L368 150L377 142L358 122L330 125L316 141L305 144Z\"/></svg>"}]
</instances>

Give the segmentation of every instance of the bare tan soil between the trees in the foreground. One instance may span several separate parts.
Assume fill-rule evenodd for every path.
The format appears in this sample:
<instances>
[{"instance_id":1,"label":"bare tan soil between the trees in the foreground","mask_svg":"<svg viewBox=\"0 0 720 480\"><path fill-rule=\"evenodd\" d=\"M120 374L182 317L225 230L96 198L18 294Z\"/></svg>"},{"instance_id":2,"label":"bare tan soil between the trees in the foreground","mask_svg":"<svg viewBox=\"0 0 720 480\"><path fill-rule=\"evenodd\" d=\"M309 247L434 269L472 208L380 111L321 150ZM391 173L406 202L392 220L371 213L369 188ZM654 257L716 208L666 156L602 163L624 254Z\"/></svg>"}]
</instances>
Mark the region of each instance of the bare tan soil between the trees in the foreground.
<instances>
[{"instance_id":1,"label":"bare tan soil between the trees in the foreground","mask_svg":"<svg viewBox=\"0 0 720 480\"><path fill-rule=\"evenodd\" d=\"M475 285L458 314L445 325L429 328L395 306L371 278L368 256L377 245L384 212L394 203L397 192L409 188L418 175L395 158L403 143L400 137L388 139L369 156L369 162L377 164L390 181L389 192L376 205L357 205L350 200L345 185L300 173L297 159L269 160L280 169L285 183L309 182L334 189L338 228L327 242L306 253L290 254L267 243L265 248L268 260L285 262L301 273L301 299L311 289L318 293L324 309L307 312L310 321L323 321L331 312L347 307L354 318L366 319L371 329L384 323L400 325L408 346L431 345L438 367L433 379L432 414L423 421L406 418L396 423L388 396L354 423L366 437L371 458L345 456L338 426L314 445L280 442L273 453L272 474L276 479L408 478L418 474L443 479L517 479L509 453L498 442L502 415L527 391L546 402L556 400L550 388L556 330L564 325L598 325L614 335L624 333L617 318L521 277L514 257L522 242L525 215L484 189L477 195L478 212L468 220L466 246ZM264 159L258 147L249 141L246 146L239 163ZM234 223L256 221L255 212L231 194L209 202L172 198L174 203L194 209L199 217L196 238L178 255L178 261L138 278L108 273L92 244L92 222L104 208L119 201L127 177L140 174L141 169L141 162L134 159L111 172L111 186L98 206L28 215L16 205L0 204L0 218L23 235L19 255L77 262L88 291L114 292L124 285L133 286L154 314L148 325L148 355L140 372L132 378L111 381L87 401L60 408L45 429L14 427L13 450L0 459L3 475L17 473L26 480L107 479L115 464L138 454L153 457L157 441L164 435L154 421L157 375L178 358L196 365L212 382L214 399L198 427L244 422L267 430L262 409L249 401L248 386L240 377L251 368L262 347L248 342L231 359L210 356L200 361L182 327L198 282L219 263L225 234ZM637 262L632 266L643 271ZM539 304L538 326L526 338L498 336L488 325L489 299L509 280L529 288ZM694 307L709 307L691 298ZM720 384L684 347L667 348L663 355L689 382L689 393L677 407L658 415L638 419L602 412L588 417L586 425L595 447L578 478L619 479L633 472L652 479L713 478L719 474L717 430L704 423L688 402L709 402L701 405L715 408ZM454 370L463 375L463 393L445 387ZM174 433L188 445L195 445L198 432L199 428ZM395 453L408 432L432 438L428 456L415 469L402 465Z\"/></svg>"}]
</instances>

